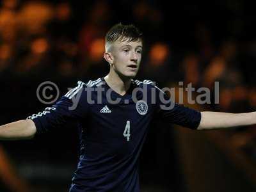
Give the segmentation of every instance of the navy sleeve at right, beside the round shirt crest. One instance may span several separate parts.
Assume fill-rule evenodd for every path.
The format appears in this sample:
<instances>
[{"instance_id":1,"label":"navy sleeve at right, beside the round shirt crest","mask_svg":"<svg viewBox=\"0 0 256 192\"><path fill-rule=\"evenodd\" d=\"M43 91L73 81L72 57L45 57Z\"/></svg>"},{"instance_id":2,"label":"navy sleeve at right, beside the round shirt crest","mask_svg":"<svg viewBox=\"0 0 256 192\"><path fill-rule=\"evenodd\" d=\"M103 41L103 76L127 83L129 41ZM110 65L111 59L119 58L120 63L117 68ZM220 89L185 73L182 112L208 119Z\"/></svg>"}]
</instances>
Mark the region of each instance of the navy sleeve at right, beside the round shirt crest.
<instances>
[{"instance_id":1,"label":"navy sleeve at right, beside the round shirt crest","mask_svg":"<svg viewBox=\"0 0 256 192\"><path fill-rule=\"evenodd\" d=\"M166 93L156 88L157 115L168 124L177 124L190 129L197 129L201 121L200 111L173 102Z\"/></svg>"}]
</instances>

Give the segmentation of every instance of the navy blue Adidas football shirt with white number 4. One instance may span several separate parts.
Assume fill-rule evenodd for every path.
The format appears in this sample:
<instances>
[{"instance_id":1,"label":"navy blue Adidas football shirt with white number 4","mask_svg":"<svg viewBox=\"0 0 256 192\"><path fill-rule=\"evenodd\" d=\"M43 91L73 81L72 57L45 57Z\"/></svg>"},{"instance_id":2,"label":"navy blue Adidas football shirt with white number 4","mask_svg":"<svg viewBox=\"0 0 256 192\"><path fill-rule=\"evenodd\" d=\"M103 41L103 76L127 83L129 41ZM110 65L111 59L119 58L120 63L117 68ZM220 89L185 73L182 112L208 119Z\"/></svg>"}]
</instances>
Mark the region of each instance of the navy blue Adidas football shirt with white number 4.
<instances>
[{"instance_id":1,"label":"navy blue Adidas football shirt with white number 4","mask_svg":"<svg viewBox=\"0 0 256 192\"><path fill-rule=\"evenodd\" d=\"M70 192L140 191L138 158L152 118L196 129L201 113L173 103L152 81L133 81L127 93L113 91L104 78L77 87L51 108L29 116L36 134L76 121L80 156Z\"/></svg>"}]
</instances>

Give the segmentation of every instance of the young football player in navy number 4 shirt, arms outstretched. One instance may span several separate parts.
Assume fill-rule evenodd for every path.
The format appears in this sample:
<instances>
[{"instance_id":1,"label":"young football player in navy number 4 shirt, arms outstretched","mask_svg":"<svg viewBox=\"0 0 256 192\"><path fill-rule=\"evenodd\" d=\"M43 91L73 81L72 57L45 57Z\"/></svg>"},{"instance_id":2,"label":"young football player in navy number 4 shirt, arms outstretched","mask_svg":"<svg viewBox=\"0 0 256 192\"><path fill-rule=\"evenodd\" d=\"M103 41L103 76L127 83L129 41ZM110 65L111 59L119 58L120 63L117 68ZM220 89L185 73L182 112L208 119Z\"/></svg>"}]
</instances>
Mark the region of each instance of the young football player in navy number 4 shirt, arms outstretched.
<instances>
[{"instance_id":1,"label":"young football player in navy number 4 shirt, arms outstretched","mask_svg":"<svg viewBox=\"0 0 256 192\"><path fill-rule=\"evenodd\" d=\"M138 157L152 118L191 129L256 124L256 113L200 112L173 103L152 81L134 80L143 40L133 25L116 24L106 34L109 73L76 88L45 111L0 127L0 138L33 138L76 121L81 150L70 192L140 191Z\"/></svg>"}]
</instances>

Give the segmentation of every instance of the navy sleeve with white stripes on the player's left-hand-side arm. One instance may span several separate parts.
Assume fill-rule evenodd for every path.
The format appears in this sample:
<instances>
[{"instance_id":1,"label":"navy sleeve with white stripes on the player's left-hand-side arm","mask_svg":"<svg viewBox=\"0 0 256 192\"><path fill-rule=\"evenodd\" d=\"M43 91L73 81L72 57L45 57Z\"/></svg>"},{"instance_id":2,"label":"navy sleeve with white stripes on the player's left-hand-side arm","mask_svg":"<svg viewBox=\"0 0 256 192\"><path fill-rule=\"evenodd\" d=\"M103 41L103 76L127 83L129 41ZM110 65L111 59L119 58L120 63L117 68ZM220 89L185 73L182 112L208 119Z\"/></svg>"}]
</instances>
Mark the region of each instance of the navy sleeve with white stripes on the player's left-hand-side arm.
<instances>
[{"instance_id":1,"label":"navy sleeve with white stripes on the player's left-hand-side arm","mask_svg":"<svg viewBox=\"0 0 256 192\"><path fill-rule=\"evenodd\" d=\"M84 100L82 98L84 95L81 94L83 89L80 88L79 91L74 92L75 89L77 90L77 88L74 88L73 91L70 90L69 94L67 93L61 97L61 99L51 107L46 108L40 113L28 116L27 119L33 120L36 125L36 134L60 128L68 121L77 121L86 116L88 105L86 102L81 102L81 100ZM69 95L72 92L73 97L70 97ZM76 95L79 95L80 98L76 98Z\"/></svg>"}]
</instances>

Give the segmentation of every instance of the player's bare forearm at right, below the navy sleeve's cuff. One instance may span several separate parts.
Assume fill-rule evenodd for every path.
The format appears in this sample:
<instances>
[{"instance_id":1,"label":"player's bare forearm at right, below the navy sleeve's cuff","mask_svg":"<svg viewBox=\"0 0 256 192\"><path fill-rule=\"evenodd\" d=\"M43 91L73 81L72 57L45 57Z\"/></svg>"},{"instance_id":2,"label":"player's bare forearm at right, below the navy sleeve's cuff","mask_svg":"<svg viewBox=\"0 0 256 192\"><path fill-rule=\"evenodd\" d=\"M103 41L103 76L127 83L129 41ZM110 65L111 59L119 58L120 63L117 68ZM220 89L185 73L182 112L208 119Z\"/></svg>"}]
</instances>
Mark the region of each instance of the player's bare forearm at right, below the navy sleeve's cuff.
<instances>
[{"instance_id":1,"label":"player's bare forearm at right, below the navy sleeve's cuff","mask_svg":"<svg viewBox=\"0 0 256 192\"><path fill-rule=\"evenodd\" d=\"M256 112L252 113L220 113L204 111L201 112L201 121L198 130L221 129L243 125L256 124Z\"/></svg>"}]
</instances>

